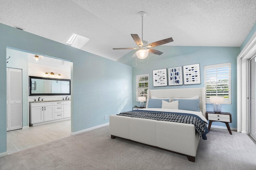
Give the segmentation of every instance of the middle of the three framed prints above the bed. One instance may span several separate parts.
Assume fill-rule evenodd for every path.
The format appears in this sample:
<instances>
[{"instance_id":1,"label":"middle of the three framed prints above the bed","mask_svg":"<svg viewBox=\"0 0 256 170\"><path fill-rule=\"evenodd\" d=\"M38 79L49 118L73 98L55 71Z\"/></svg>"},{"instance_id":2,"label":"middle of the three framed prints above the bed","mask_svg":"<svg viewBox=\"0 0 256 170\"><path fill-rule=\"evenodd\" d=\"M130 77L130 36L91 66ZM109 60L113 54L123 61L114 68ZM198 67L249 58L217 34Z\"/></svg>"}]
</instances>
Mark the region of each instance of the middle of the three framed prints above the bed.
<instances>
[{"instance_id":1,"label":"middle of the three framed prints above the bed","mask_svg":"<svg viewBox=\"0 0 256 170\"><path fill-rule=\"evenodd\" d=\"M183 85L182 66L168 68L168 85Z\"/></svg>"}]
</instances>

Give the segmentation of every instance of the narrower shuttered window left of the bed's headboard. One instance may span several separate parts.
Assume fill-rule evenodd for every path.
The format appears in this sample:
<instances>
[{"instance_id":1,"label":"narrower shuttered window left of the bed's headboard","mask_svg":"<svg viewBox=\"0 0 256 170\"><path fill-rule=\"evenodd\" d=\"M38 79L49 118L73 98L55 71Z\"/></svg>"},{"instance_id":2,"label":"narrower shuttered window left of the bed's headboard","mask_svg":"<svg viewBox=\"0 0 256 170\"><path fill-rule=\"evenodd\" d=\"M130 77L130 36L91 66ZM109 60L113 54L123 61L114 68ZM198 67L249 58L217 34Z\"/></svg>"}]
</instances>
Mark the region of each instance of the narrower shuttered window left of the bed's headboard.
<instances>
[{"instance_id":1,"label":"narrower shuttered window left of the bed's headboard","mask_svg":"<svg viewBox=\"0 0 256 170\"><path fill-rule=\"evenodd\" d=\"M148 74L140 74L136 75L136 101L138 101L138 97L146 97L148 96Z\"/></svg>"}]
</instances>

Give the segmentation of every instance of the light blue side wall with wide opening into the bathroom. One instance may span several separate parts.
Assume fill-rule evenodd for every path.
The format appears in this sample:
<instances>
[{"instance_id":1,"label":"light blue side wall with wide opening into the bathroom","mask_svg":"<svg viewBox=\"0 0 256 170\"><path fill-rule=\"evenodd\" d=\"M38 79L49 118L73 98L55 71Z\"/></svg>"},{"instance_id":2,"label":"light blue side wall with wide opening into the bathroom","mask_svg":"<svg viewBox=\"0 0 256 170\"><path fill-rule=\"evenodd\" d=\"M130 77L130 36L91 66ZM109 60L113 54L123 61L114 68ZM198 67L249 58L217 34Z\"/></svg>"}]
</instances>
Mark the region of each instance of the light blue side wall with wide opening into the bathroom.
<instances>
[{"instance_id":1,"label":"light blue side wall with wide opening into the bathroom","mask_svg":"<svg viewBox=\"0 0 256 170\"><path fill-rule=\"evenodd\" d=\"M72 61L71 131L132 108L132 67L0 24L0 154L6 152L6 48Z\"/></svg>"}]
</instances>

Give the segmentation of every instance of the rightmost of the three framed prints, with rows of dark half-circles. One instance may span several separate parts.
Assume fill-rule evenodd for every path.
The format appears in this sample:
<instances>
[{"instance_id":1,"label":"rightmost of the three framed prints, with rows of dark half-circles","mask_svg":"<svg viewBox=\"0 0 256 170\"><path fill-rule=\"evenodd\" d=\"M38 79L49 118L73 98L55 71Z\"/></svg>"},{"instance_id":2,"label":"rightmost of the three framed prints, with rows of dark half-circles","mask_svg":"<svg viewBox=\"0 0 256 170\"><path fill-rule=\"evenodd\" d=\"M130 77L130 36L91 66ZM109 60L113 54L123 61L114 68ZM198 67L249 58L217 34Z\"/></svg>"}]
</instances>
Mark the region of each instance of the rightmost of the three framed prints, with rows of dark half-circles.
<instances>
[{"instance_id":1,"label":"rightmost of the three framed prints, with rows of dark half-circles","mask_svg":"<svg viewBox=\"0 0 256 170\"><path fill-rule=\"evenodd\" d=\"M200 65L184 65L183 66L184 85L201 84Z\"/></svg>"}]
</instances>

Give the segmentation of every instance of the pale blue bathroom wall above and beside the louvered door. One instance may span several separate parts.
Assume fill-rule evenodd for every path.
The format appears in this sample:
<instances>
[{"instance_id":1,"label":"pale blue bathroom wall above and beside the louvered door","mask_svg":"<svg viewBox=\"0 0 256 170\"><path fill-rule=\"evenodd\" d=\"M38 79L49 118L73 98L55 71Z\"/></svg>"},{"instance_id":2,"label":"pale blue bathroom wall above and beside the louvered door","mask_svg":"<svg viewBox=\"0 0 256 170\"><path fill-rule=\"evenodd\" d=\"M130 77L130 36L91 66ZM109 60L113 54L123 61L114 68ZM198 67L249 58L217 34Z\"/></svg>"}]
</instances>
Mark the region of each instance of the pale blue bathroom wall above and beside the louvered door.
<instances>
[{"instance_id":1,"label":"pale blue bathroom wall above and beside the louvered door","mask_svg":"<svg viewBox=\"0 0 256 170\"><path fill-rule=\"evenodd\" d=\"M6 49L6 67L22 69L22 127L28 125L28 53Z\"/></svg>"}]
</instances>

